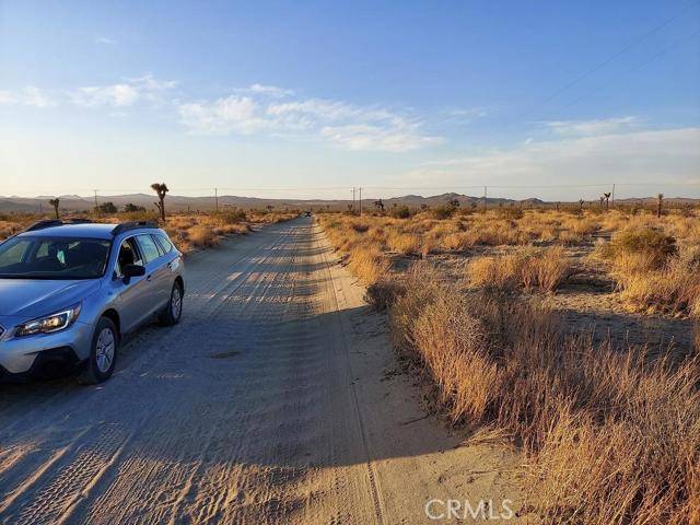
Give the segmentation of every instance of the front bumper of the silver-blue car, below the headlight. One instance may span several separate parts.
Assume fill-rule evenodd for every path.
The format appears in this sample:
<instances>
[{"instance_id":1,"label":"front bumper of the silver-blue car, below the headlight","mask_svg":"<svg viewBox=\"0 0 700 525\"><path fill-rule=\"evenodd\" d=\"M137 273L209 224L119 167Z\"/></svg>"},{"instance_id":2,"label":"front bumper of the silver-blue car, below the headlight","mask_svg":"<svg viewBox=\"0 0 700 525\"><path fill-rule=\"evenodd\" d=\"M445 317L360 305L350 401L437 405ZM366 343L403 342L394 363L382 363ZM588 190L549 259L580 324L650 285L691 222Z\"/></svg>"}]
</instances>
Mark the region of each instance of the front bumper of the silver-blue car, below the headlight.
<instances>
[{"instance_id":1,"label":"front bumper of the silver-blue car, below the headlight","mask_svg":"<svg viewBox=\"0 0 700 525\"><path fill-rule=\"evenodd\" d=\"M12 337L16 323L7 317L0 318L0 326L4 329L0 336L0 375L50 374L51 366L59 369L70 361L78 364L90 357L93 337L90 324L78 320L55 334L25 337Z\"/></svg>"}]
</instances>

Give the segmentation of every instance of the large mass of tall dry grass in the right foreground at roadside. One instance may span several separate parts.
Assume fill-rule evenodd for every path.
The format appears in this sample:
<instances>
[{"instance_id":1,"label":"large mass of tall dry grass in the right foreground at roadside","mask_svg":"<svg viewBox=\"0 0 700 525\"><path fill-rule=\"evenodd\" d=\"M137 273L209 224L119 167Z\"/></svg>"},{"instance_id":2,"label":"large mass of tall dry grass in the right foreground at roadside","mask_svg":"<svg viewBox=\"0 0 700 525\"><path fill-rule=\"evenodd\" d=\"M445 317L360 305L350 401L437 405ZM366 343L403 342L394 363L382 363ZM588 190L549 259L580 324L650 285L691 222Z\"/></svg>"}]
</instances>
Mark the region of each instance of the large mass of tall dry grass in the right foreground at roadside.
<instances>
[{"instance_id":1,"label":"large mass of tall dry grass in the right foreground at roadside","mask_svg":"<svg viewBox=\"0 0 700 525\"><path fill-rule=\"evenodd\" d=\"M508 432L532 455L533 503L546 523L697 520L698 358L674 366L596 347L565 336L541 307L456 294L421 269L390 320L454 421Z\"/></svg>"}]
</instances>

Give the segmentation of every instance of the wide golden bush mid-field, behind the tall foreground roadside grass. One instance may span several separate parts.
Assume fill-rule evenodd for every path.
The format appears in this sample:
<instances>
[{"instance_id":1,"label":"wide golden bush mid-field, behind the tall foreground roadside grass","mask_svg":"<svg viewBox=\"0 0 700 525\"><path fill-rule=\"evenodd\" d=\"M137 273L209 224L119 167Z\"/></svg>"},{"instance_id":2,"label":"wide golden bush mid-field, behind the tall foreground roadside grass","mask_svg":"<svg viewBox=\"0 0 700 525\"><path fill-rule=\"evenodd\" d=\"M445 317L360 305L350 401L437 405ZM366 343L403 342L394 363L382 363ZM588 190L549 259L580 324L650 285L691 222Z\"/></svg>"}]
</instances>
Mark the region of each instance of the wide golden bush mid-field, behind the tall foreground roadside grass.
<instances>
[{"instance_id":1,"label":"wide golden bush mid-field, behind the tall foreground roadside grass","mask_svg":"<svg viewBox=\"0 0 700 525\"><path fill-rule=\"evenodd\" d=\"M467 267L471 283L477 287L556 290L565 281L571 268L558 247L522 248L513 254L478 257Z\"/></svg>"}]
</instances>

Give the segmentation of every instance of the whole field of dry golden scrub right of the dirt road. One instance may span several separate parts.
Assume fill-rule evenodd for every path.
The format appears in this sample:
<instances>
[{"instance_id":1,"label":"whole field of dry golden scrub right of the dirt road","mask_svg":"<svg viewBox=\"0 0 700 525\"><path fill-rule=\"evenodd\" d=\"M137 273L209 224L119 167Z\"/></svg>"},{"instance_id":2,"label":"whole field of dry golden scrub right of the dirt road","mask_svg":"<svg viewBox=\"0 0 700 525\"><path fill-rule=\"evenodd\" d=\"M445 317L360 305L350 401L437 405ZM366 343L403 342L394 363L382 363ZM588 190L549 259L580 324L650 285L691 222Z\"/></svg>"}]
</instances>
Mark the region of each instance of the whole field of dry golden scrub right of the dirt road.
<instances>
[{"instance_id":1,"label":"whole field of dry golden scrub right of the dirt road","mask_svg":"<svg viewBox=\"0 0 700 525\"><path fill-rule=\"evenodd\" d=\"M320 224L435 406L520 446L545 523L700 523L697 210Z\"/></svg>"}]
</instances>

